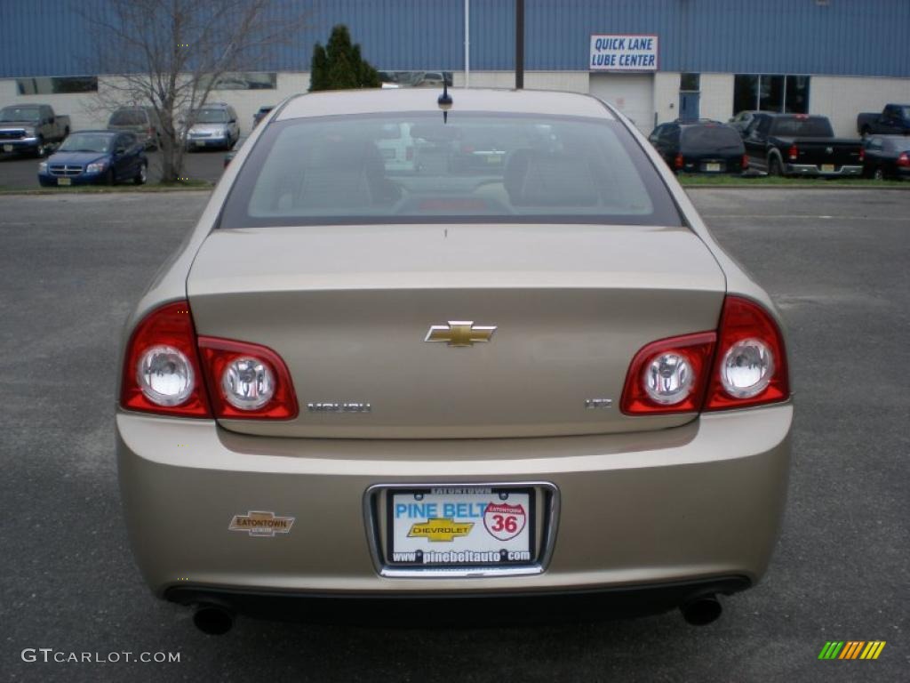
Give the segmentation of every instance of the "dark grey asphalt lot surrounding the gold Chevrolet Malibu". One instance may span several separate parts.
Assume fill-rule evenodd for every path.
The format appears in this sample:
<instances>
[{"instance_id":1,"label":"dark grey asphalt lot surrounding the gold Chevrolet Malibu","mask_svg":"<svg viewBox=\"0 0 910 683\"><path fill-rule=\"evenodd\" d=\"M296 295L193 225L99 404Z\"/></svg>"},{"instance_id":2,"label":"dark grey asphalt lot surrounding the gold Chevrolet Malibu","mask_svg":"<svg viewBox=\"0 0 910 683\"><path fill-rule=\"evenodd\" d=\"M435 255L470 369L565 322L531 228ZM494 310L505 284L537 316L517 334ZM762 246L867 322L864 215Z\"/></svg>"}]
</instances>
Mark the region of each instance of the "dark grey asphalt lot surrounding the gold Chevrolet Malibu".
<instances>
[{"instance_id":1,"label":"dark grey asphalt lot surrounding the gold Chevrolet Malibu","mask_svg":"<svg viewBox=\"0 0 910 683\"><path fill-rule=\"evenodd\" d=\"M206 155L213 157L215 155ZM700 189L717 238L790 331L794 466L763 583L690 627L678 613L527 626L313 626L205 636L149 596L116 485L116 344L207 194L0 197L0 671L11 681L898 681L910 666L910 192ZM706 493L709 494L709 493ZM828 640L885 640L820 661ZM178 653L176 663L44 663ZM122 659L123 656L121 655Z\"/></svg>"}]
</instances>

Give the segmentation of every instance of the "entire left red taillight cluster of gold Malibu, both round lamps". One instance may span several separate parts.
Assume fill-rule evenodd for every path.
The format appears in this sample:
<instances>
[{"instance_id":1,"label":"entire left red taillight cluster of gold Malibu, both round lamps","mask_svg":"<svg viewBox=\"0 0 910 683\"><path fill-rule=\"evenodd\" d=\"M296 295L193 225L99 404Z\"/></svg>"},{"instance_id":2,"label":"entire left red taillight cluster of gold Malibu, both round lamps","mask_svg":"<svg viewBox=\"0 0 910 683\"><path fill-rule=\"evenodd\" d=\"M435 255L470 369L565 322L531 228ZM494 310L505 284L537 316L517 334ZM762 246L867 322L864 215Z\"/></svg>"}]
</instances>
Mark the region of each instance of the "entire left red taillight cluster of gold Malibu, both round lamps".
<instances>
[{"instance_id":1,"label":"entire left red taillight cluster of gold Malibu, both round lamps","mask_svg":"<svg viewBox=\"0 0 910 683\"><path fill-rule=\"evenodd\" d=\"M199 337L187 301L136 325L126 347L120 404L179 417L289 420L297 398L288 367L258 344Z\"/></svg>"}]
</instances>

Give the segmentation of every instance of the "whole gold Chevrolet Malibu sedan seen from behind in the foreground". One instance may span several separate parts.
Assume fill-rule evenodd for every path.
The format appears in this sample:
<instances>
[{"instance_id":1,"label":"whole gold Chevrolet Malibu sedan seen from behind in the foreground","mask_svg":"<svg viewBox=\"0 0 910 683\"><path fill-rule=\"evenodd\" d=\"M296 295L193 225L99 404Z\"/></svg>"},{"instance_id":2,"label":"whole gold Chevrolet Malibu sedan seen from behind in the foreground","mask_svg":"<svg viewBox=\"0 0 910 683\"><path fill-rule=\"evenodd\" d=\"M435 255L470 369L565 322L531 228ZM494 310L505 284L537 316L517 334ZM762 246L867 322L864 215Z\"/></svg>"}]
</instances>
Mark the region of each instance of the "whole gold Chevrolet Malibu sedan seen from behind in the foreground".
<instances>
[{"instance_id":1,"label":"whole gold Chevrolet Malibu sedan seen from behind in the foreground","mask_svg":"<svg viewBox=\"0 0 910 683\"><path fill-rule=\"evenodd\" d=\"M289 99L129 315L142 576L207 633L380 596L712 621L783 515L771 299L593 97L460 90L427 145L507 125L546 147L390 176L383 130L443 127L437 95Z\"/></svg>"}]
</instances>

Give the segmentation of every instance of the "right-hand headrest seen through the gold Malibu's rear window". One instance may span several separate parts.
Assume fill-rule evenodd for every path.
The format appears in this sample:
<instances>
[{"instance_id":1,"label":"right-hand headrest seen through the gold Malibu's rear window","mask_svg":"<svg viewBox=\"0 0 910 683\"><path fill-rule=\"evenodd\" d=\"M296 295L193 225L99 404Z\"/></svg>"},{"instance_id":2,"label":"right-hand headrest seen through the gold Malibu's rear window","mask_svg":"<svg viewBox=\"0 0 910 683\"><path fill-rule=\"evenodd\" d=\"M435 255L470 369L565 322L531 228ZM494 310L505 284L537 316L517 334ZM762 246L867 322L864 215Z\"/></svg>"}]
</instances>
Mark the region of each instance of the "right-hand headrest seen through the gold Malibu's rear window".
<instances>
[{"instance_id":1,"label":"right-hand headrest seen through the gold Malibu's rear window","mask_svg":"<svg viewBox=\"0 0 910 683\"><path fill-rule=\"evenodd\" d=\"M564 152L517 149L503 182L514 206L590 207L600 199L591 165Z\"/></svg>"}]
</instances>

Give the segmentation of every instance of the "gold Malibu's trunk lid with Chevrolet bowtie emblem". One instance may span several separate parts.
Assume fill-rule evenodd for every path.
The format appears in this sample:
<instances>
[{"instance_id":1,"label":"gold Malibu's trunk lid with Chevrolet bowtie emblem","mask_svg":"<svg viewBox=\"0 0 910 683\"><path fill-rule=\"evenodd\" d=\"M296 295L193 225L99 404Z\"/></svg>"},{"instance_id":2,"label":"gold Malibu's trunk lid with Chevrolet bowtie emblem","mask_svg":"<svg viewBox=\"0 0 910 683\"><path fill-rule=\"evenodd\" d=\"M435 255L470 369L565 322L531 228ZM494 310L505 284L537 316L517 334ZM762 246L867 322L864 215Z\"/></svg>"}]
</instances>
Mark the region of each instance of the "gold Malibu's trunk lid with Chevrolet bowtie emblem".
<instances>
[{"instance_id":1,"label":"gold Malibu's trunk lid with Chevrolet bowtie emblem","mask_svg":"<svg viewBox=\"0 0 910 683\"><path fill-rule=\"evenodd\" d=\"M691 230L603 225L216 230L187 280L197 333L278 352L300 406L286 422L222 425L338 438L688 422L692 414L623 415L622 386L648 342L715 329L724 288ZM465 330L450 323L469 321L494 327L490 341L425 342L432 326L457 342ZM370 410L332 412L344 403Z\"/></svg>"}]
</instances>

